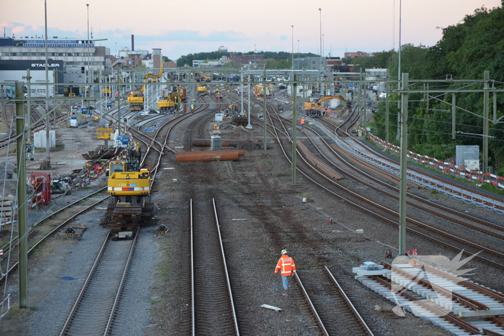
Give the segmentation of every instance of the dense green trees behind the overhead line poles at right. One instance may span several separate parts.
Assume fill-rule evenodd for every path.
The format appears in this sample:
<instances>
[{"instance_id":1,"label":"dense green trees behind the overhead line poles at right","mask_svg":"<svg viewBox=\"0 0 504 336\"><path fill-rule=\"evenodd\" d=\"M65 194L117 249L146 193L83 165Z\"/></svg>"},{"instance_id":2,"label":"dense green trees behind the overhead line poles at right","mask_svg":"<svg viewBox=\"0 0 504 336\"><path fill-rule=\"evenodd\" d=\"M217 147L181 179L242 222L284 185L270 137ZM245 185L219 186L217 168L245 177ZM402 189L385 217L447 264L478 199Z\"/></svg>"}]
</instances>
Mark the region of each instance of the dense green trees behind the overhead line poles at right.
<instances>
[{"instance_id":1,"label":"dense green trees behind the overhead line poles at right","mask_svg":"<svg viewBox=\"0 0 504 336\"><path fill-rule=\"evenodd\" d=\"M443 28L443 37L432 47L406 44L401 49L401 72L409 73L411 79L445 80L448 78L482 80L484 71L490 72L490 79L504 82L504 8L492 10L476 9L466 15L457 25ZM387 68L389 79L397 80L398 55L396 50L382 51L374 57L343 59L344 63L361 68ZM343 65L344 66L344 65ZM355 68L354 68L355 69ZM391 84L391 88L397 84ZM456 82L430 83L430 88L457 89ZM466 83L467 85L467 83ZM499 84L496 84L497 86ZM465 88L481 89L482 85ZM410 94L408 105L408 149L424 155L446 160L455 156L457 145L479 145L483 138L483 93L456 93L456 130L474 135L457 135L452 140L452 94L432 94L437 99L429 99L427 110L423 94ZM400 100L391 94L391 101ZM439 100L438 100L439 99ZM493 95L490 94L489 116L493 117ZM462 108L462 109L461 109ZM464 110L470 111L464 111ZM503 115L504 94L496 96L496 119ZM389 104L389 141L399 145L397 136L397 103ZM385 139L385 103L379 103L373 116L377 136ZM489 166L497 175L504 176L504 118L500 123L490 121ZM479 135L479 136L478 136Z\"/></svg>"}]
</instances>

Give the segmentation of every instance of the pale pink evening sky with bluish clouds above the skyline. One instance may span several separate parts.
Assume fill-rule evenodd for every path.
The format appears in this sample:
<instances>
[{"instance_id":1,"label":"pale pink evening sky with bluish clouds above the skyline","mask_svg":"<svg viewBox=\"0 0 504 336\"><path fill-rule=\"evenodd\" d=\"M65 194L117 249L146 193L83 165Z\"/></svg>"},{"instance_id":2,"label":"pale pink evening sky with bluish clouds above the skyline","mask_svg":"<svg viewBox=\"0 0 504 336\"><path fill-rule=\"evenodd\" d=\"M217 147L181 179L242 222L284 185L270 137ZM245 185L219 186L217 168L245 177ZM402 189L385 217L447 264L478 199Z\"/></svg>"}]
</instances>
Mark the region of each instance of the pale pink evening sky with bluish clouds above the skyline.
<instances>
[{"instance_id":1,"label":"pale pink evening sky with bluish clouds above the skyline","mask_svg":"<svg viewBox=\"0 0 504 336\"><path fill-rule=\"evenodd\" d=\"M44 33L42 0L2 1L0 26L7 36L40 36ZM500 0L403 0L401 42L435 44L447 27L460 22L476 8L500 6ZM320 48L319 8L322 8L324 53L343 56L348 51L380 51L393 43L394 0L241 2L196 0L192 2L144 2L122 0L48 0L48 36L81 37L87 34L87 11L93 37L114 53L122 46L160 47L163 55L214 51L220 45L233 51L291 51L317 53ZM130 5L131 4L131 5ZM399 0L395 0L396 34L399 43ZM90 28L91 29L91 28ZM1 32L3 34L3 31Z\"/></svg>"}]
</instances>

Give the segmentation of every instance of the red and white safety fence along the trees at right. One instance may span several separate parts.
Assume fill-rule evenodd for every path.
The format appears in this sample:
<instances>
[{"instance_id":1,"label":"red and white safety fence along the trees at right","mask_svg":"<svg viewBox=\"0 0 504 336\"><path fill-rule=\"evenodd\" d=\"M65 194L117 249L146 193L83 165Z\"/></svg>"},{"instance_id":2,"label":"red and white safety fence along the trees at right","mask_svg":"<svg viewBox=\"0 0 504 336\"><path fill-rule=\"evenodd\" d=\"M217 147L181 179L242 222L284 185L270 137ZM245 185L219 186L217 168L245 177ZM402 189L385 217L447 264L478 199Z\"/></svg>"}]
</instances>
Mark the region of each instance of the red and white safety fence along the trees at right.
<instances>
[{"instance_id":1,"label":"red and white safety fence along the trees at right","mask_svg":"<svg viewBox=\"0 0 504 336\"><path fill-rule=\"evenodd\" d=\"M401 154L401 148L394 144L388 143L383 139L380 139L373 135L372 133L367 133L365 128L360 128L362 131L362 135L367 136L367 139L374 143L376 146L383 148L386 151L391 151L396 154ZM497 188L497 190L504 189L504 177L497 176L494 174L483 173L480 170L471 170L466 167L457 166L450 162L444 162L435 158L432 158L427 155L421 155L418 153L414 153L412 151L407 151L406 157L416 163L421 163L424 165L428 165L431 168L441 170L444 173L461 177L467 180L471 180L479 183L488 183L492 184Z\"/></svg>"}]
</instances>

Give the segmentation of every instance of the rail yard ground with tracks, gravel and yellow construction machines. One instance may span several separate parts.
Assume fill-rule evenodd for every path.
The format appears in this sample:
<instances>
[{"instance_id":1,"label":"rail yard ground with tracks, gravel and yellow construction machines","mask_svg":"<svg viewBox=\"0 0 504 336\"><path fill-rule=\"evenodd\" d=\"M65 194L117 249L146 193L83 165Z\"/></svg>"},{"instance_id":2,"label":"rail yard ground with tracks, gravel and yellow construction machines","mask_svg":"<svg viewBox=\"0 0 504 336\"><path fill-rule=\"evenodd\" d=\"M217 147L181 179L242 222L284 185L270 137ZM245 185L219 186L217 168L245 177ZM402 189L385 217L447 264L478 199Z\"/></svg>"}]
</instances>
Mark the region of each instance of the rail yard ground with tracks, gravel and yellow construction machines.
<instances>
[{"instance_id":1,"label":"rail yard ground with tracks, gravel and yellow construction machines","mask_svg":"<svg viewBox=\"0 0 504 336\"><path fill-rule=\"evenodd\" d=\"M369 141L356 100L295 101L288 81L214 83L199 72L164 88L161 71L150 76L128 97L83 112L87 127L71 127L80 99L50 114L56 139L75 153L95 143L75 145L64 131L118 145L79 171L58 168L71 181L48 205L30 185L31 308L6 314L2 334L504 335L503 197L411 163L409 255L400 256L399 159ZM15 123L15 103L3 106L3 120ZM31 109L34 124L48 112L44 102ZM7 167L16 130L3 127ZM43 154L33 151L33 162ZM37 172L51 171L29 166L28 176ZM11 305L13 227L5 223L0 237ZM287 297L274 275L284 248L297 267ZM422 259L459 254L474 256L454 269ZM460 268L474 271L457 277Z\"/></svg>"}]
</instances>

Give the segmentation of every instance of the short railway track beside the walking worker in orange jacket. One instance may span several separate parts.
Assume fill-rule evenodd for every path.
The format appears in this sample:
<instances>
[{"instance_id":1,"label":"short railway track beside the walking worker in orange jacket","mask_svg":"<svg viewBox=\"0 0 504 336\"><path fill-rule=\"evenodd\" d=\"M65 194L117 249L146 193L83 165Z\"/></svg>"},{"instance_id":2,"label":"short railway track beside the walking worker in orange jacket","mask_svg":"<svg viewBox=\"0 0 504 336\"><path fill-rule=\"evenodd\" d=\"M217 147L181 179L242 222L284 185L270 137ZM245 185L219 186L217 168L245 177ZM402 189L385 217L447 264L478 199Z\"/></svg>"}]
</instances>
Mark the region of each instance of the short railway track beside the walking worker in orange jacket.
<instances>
[{"instance_id":1,"label":"short railway track beside the walking worker in orange jacket","mask_svg":"<svg viewBox=\"0 0 504 336\"><path fill-rule=\"evenodd\" d=\"M302 272L301 277L295 273L294 278L323 335L373 336L327 266L323 270Z\"/></svg>"}]
</instances>

